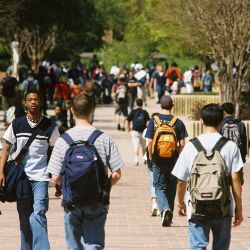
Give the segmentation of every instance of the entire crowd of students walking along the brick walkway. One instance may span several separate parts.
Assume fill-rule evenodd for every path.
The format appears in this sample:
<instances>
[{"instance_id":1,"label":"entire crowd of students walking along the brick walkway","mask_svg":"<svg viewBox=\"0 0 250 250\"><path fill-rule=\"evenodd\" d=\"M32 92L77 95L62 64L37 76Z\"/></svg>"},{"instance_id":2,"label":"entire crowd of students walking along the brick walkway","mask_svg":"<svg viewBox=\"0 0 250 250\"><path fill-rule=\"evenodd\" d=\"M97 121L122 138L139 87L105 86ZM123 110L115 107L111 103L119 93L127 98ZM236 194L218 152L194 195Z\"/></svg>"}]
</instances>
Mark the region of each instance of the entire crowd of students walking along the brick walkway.
<instances>
[{"instance_id":1,"label":"entire crowd of students walking along the brick walkway","mask_svg":"<svg viewBox=\"0 0 250 250\"><path fill-rule=\"evenodd\" d=\"M176 63L163 68L151 62L112 67L107 74L94 55L88 69L79 61L69 69L45 62L37 74L26 73L20 83L9 71L2 81L7 129L0 145L0 193L8 184L9 158L22 173L16 185L22 186L16 194L21 249L50 249L50 181L56 195L62 193L68 249L104 248L109 194L121 178L123 160L113 139L92 122L96 103L112 101L117 129L131 132L134 166L140 165L141 150L148 167L151 216L170 227L177 200L179 215L188 217L191 249L205 249L210 230L213 249L229 249L232 216L235 226L243 220L246 128L234 119L232 103L209 104L201 111L204 133L186 144L185 124L172 113L171 96L181 88L212 90L210 68L202 73L195 66L182 74ZM147 98L155 90L159 110L150 116ZM55 108L50 118L48 105Z\"/></svg>"}]
</instances>

